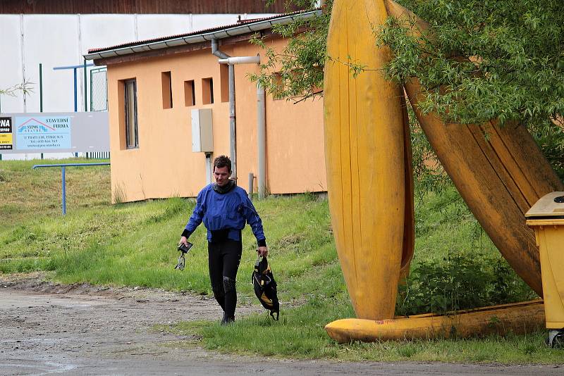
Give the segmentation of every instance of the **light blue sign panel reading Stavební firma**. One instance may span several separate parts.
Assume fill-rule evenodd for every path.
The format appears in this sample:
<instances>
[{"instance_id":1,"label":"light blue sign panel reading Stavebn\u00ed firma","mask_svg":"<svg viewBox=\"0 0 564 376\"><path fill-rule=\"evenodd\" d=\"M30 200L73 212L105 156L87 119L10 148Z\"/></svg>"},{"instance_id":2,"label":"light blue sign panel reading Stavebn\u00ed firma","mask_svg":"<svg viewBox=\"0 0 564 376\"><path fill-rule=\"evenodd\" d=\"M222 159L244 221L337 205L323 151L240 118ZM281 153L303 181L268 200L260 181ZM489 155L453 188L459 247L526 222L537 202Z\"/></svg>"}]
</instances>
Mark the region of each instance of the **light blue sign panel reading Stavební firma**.
<instances>
[{"instance_id":1,"label":"light blue sign panel reading Stavebn\u00ed firma","mask_svg":"<svg viewBox=\"0 0 564 376\"><path fill-rule=\"evenodd\" d=\"M16 149L71 149L70 116L17 116Z\"/></svg>"}]
</instances>

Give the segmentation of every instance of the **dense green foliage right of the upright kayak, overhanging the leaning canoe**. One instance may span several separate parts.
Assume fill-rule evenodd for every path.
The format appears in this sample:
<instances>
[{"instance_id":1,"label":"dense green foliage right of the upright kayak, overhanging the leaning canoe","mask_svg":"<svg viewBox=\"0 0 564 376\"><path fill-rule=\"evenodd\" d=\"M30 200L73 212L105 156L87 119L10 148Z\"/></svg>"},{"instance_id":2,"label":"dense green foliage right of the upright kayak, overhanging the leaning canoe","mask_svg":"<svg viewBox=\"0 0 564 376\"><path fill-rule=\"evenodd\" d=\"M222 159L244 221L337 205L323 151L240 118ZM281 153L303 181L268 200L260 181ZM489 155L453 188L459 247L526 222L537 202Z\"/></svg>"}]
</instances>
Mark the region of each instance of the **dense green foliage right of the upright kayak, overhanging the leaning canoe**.
<instances>
[{"instance_id":1,"label":"dense green foliage right of the upright kayak, overhanging the leaning canoe","mask_svg":"<svg viewBox=\"0 0 564 376\"><path fill-rule=\"evenodd\" d=\"M398 0L429 24L394 18L376 31L391 80L418 77L423 113L447 122L527 125L564 177L564 13L559 0Z\"/></svg>"}]
</instances>

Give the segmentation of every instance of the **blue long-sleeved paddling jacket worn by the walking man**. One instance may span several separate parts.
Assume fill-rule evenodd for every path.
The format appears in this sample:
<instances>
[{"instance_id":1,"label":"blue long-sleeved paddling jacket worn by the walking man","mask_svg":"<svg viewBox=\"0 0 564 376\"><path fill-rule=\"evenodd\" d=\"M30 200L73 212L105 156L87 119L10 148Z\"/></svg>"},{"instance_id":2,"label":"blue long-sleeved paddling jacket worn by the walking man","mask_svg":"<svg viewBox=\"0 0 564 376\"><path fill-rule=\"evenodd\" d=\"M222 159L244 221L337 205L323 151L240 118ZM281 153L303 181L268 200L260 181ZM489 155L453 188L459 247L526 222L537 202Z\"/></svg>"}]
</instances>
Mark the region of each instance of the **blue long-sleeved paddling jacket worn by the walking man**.
<instances>
[{"instance_id":1,"label":"blue long-sleeved paddling jacket worn by the walking man","mask_svg":"<svg viewBox=\"0 0 564 376\"><path fill-rule=\"evenodd\" d=\"M214 184L204 187L197 196L194 212L182 235L190 237L202 222L207 228L208 242L224 239L240 241L241 230L248 223L258 245L266 246L262 220L243 188L235 186L229 192L219 193L214 190Z\"/></svg>"}]
</instances>

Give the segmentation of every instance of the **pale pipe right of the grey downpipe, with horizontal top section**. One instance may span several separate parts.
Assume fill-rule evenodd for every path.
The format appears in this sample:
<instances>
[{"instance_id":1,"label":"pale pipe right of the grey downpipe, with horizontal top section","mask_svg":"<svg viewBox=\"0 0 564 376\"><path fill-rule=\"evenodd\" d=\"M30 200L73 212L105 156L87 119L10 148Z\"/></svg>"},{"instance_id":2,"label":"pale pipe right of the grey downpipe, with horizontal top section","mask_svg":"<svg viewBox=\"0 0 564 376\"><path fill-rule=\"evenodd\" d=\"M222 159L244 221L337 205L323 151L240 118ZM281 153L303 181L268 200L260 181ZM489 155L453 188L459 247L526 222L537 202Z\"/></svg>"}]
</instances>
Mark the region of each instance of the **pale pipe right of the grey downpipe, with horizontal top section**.
<instances>
[{"instance_id":1,"label":"pale pipe right of the grey downpipe, with horizontal top section","mask_svg":"<svg viewBox=\"0 0 564 376\"><path fill-rule=\"evenodd\" d=\"M235 64L260 64L260 56L235 56L220 58L219 63L228 64L229 68L231 69ZM257 84L257 156L259 160L259 171L257 179L259 185L259 199L264 199L264 197L266 196L266 104L264 101L264 96L264 87L261 87L260 84Z\"/></svg>"}]
</instances>

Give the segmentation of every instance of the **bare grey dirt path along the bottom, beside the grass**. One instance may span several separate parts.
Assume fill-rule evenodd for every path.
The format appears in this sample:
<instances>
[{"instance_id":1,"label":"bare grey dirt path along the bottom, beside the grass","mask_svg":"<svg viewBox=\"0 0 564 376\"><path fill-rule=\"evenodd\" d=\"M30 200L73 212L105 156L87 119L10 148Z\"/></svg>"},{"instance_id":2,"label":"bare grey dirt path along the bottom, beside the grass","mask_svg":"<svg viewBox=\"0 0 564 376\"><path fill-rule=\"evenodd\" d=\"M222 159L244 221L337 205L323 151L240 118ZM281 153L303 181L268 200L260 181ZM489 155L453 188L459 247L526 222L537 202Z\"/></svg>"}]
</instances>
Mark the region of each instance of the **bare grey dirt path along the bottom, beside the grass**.
<instances>
[{"instance_id":1,"label":"bare grey dirt path along the bottom, beside the grass","mask_svg":"<svg viewBox=\"0 0 564 376\"><path fill-rule=\"evenodd\" d=\"M240 307L239 314L256 307ZM0 280L0 375L561 375L561 368L280 361L207 353L155 324L215 320L202 296Z\"/></svg>"}]
</instances>

